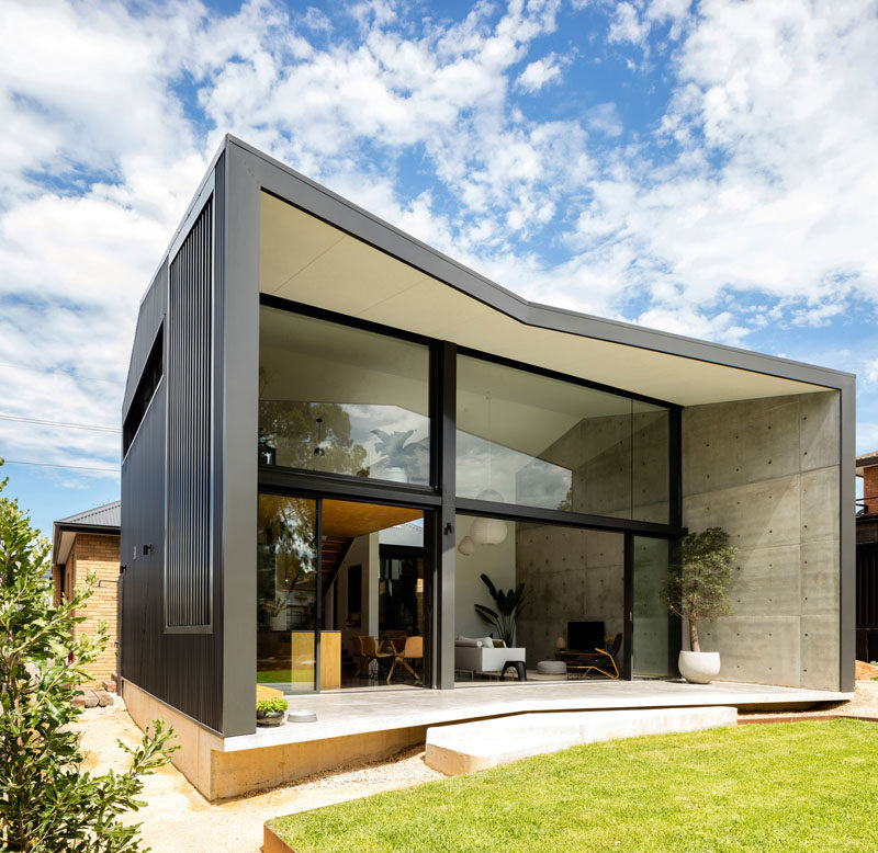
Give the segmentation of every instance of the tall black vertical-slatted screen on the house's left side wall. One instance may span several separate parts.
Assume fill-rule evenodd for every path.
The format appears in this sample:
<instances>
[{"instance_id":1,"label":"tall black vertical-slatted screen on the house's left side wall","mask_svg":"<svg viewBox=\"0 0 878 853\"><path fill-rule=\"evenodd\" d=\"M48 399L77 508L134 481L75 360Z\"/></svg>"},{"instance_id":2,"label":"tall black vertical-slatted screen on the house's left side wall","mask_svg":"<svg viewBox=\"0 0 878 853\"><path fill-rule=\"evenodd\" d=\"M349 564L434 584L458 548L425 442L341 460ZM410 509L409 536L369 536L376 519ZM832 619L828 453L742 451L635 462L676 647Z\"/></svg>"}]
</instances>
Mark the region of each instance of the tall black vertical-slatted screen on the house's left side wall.
<instances>
[{"instance_id":1,"label":"tall black vertical-slatted screen on the house's left side wall","mask_svg":"<svg viewBox=\"0 0 878 853\"><path fill-rule=\"evenodd\" d=\"M213 198L171 261L168 284L168 628L211 625Z\"/></svg>"}]
</instances>

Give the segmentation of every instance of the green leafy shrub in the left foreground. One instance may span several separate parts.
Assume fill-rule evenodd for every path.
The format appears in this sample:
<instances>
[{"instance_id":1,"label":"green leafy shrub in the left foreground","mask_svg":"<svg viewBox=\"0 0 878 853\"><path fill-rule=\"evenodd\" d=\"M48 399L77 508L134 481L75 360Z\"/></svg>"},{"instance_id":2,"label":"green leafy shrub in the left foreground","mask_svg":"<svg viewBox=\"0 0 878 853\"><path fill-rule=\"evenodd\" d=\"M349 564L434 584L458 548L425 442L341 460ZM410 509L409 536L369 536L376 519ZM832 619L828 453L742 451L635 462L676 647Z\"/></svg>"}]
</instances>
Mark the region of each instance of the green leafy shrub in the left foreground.
<instances>
[{"instance_id":1,"label":"green leafy shrub in the left foreground","mask_svg":"<svg viewBox=\"0 0 878 853\"><path fill-rule=\"evenodd\" d=\"M0 459L2 465L2 459ZM0 491L7 480L0 481ZM18 502L0 496L0 846L13 851L132 851L139 824L120 816L135 799L140 776L170 760L172 729L154 721L132 750L125 773L80 770L79 736L69 730L81 709L77 687L106 641L106 628L71 640L91 595L90 577L69 602L52 606L46 578L49 543L38 537ZM69 662L72 660L72 662Z\"/></svg>"}]
</instances>

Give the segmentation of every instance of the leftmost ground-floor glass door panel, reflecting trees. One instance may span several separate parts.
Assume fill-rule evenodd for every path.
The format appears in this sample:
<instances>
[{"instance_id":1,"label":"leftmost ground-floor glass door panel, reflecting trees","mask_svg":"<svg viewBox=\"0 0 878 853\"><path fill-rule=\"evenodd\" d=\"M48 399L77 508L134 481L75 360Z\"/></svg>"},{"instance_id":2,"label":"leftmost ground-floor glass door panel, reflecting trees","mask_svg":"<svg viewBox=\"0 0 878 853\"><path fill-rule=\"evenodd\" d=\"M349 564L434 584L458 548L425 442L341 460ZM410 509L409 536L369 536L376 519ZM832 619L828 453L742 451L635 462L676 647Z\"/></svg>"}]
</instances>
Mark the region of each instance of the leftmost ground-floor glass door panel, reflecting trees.
<instances>
[{"instance_id":1,"label":"leftmost ground-floor glass door panel, reflecting trees","mask_svg":"<svg viewBox=\"0 0 878 853\"><path fill-rule=\"evenodd\" d=\"M314 690L317 504L259 496L256 682L284 693Z\"/></svg>"}]
</instances>

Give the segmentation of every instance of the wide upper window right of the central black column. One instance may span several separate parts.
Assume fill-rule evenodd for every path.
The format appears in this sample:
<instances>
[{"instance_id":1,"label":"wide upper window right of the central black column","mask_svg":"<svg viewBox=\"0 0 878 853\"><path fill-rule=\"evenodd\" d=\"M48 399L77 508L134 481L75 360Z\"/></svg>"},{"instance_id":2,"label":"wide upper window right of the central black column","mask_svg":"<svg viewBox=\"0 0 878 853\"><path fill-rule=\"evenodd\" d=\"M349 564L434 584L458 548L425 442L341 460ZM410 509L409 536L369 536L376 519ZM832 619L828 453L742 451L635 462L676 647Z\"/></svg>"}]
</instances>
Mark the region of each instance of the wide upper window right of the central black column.
<instances>
[{"instance_id":1,"label":"wide upper window right of the central black column","mask_svg":"<svg viewBox=\"0 0 878 853\"><path fill-rule=\"evenodd\" d=\"M668 412L458 359L459 497L668 521Z\"/></svg>"}]
</instances>

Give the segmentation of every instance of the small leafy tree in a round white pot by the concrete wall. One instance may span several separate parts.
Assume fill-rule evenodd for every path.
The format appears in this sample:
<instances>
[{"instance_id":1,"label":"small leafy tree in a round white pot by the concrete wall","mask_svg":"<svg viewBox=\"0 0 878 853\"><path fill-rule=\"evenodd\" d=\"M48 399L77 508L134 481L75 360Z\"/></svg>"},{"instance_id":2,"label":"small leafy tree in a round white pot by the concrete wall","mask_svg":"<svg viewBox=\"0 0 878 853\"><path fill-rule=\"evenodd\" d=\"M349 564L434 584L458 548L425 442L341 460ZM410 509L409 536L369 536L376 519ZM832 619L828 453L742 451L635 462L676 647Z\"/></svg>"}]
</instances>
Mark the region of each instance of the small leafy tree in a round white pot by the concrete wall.
<instances>
[{"instance_id":1,"label":"small leafy tree in a round white pot by the concrete wall","mask_svg":"<svg viewBox=\"0 0 878 853\"><path fill-rule=\"evenodd\" d=\"M689 624L690 651L680 651L680 675L695 684L709 684L720 672L720 653L701 651L698 623L714 619L731 610L727 592L738 549L729 544L722 527L689 533L679 543L676 560L665 585L671 612Z\"/></svg>"}]
</instances>

